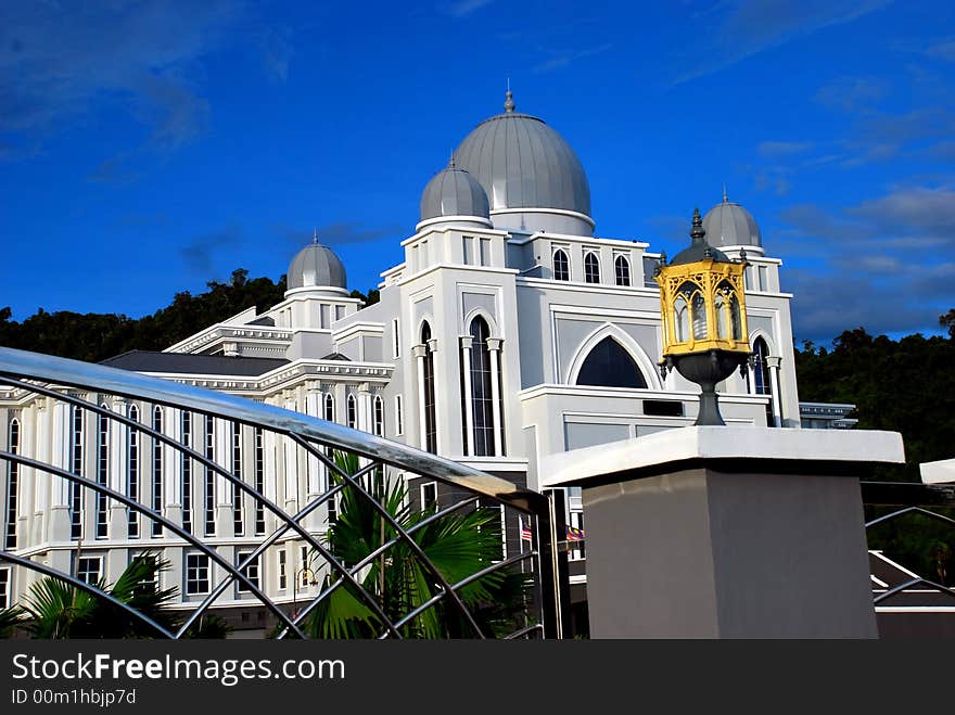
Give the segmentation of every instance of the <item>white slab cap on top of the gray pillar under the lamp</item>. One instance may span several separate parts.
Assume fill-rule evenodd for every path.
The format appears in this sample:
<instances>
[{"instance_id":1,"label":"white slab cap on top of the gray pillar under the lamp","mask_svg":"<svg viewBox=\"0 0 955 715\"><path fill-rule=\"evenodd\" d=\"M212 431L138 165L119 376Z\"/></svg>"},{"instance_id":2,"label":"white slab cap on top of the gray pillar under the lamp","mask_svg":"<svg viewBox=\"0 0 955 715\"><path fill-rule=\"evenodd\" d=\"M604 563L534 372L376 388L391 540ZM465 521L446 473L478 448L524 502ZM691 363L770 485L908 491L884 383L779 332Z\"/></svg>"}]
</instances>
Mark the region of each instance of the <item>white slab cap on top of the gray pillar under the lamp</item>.
<instances>
[{"instance_id":1,"label":"white slab cap on top of the gray pillar under the lamp","mask_svg":"<svg viewBox=\"0 0 955 715\"><path fill-rule=\"evenodd\" d=\"M897 432L690 426L548 455L540 460L540 486L580 485L588 478L616 472L651 470L692 460L899 464L905 462L905 450ZM955 480L955 460L945 463L948 481Z\"/></svg>"}]
</instances>

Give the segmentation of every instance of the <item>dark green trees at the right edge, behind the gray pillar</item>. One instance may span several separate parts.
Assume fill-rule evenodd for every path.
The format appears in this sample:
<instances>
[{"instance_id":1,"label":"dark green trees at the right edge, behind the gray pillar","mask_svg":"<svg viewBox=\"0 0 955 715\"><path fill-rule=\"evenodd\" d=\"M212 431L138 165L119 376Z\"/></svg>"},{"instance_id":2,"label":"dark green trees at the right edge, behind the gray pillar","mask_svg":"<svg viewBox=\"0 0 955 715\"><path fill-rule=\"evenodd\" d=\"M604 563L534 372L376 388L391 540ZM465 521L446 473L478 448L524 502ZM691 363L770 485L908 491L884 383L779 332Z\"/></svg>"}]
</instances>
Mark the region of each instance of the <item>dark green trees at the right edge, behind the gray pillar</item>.
<instances>
[{"instance_id":1,"label":"dark green trees at the right edge, behind the gray pillar","mask_svg":"<svg viewBox=\"0 0 955 715\"><path fill-rule=\"evenodd\" d=\"M955 456L955 339L893 341L856 328L831 350L805 343L795 371L801 400L852 403L861 430L902 433L907 464L877 478L917 482L920 462Z\"/></svg>"}]
</instances>

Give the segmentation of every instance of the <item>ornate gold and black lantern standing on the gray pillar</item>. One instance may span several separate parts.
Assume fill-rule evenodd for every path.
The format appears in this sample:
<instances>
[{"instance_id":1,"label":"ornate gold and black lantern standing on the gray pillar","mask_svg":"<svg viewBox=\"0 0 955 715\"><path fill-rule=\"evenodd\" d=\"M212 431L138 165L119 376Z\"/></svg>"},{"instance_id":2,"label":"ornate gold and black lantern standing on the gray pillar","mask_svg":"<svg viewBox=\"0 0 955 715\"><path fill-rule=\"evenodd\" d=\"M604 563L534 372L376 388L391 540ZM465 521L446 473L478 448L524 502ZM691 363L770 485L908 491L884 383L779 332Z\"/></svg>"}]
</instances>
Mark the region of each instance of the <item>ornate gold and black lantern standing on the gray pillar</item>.
<instances>
[{"instance_id":1,"label":"ornate gold and black lantern standing on the gray pillar","mask_svg":"<svg viewBox=\"0 0 955 715\"><path fill-rule=\"evenodd\" d=\"M730 259L706 243L700 209L693 209L690 243L667 265L662 255L653 274L660 285L663 357L660 374L676 368L700 385L697 424L726 424L720 414L716 384L750 357L743 270L746 251Z\"/></svg>"}]
</instances>

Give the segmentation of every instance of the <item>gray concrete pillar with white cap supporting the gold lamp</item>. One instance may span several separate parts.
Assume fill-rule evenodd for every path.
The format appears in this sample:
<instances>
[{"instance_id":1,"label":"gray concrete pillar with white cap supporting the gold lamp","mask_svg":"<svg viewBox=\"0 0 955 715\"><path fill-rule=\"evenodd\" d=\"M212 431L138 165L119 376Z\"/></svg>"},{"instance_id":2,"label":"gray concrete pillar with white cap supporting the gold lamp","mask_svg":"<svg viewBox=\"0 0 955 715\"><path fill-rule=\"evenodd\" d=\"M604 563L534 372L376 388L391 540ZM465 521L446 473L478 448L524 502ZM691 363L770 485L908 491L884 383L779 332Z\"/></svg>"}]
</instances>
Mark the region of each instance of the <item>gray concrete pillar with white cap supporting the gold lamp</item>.
<instances>
[{"instance_id":1,"label":"gray concrete pillar with white cap supporting the gold lamp","mask_svg":"<svg viewBox=\"0 0 955 715\"><path fill-rule=\"evenodd\" d=\"M542 460L583 487L593 638L875 638L858 474L893 432L683 427Z\"/></svg>"}]
</instances>

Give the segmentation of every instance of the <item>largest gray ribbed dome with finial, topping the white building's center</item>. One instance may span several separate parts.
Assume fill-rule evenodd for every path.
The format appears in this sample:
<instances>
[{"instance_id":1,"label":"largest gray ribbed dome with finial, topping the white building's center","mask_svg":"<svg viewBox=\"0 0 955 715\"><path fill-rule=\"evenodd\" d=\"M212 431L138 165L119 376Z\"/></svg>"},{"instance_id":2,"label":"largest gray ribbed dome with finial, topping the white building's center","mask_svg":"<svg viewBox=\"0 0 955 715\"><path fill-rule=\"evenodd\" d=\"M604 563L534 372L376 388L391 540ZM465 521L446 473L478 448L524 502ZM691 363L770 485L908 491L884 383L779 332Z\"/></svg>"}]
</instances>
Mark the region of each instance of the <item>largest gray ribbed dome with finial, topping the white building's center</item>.
<instances>
[{"instance_id":1,"label":"largest gray ribbed dome with finial, topping the white building's center","mask_svg":"<svg viewBox=\"0 0 955 715\"><path fill-rule=\"evenodd\" d=\"M487 193L492 213L504 208L557 208L590 216L590 184L581 159L542 119L514 112L485 119L455 152Z\"/></svg>"}]
</instances>

